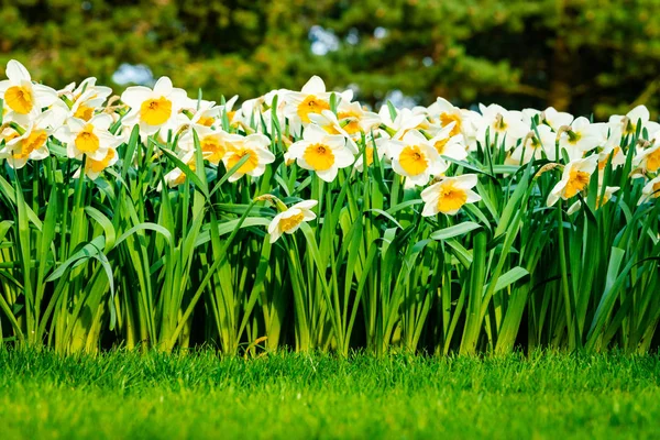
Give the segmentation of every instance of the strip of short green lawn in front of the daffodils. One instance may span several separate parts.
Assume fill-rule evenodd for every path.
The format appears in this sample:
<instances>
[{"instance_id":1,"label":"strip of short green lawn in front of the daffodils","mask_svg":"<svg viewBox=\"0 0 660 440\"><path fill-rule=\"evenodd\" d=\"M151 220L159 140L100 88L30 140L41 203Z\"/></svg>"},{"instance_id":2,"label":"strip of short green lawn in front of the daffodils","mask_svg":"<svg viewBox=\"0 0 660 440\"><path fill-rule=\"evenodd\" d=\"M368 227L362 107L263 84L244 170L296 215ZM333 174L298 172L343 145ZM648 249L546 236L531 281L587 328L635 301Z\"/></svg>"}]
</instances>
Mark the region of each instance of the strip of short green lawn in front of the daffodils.
<instances>
[{"instance_id":1,"label":"strip of short green lawn in front of the daffodils","mask_svg":"<svg viewBox=\"0 0 660 440\"><path fill-rule=\"evenodd\" d=\"M660 358L0 350L2 439L658 438Z\"/></svg>"}]
</instances>

